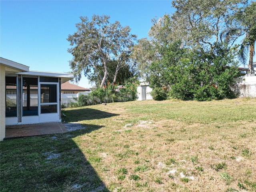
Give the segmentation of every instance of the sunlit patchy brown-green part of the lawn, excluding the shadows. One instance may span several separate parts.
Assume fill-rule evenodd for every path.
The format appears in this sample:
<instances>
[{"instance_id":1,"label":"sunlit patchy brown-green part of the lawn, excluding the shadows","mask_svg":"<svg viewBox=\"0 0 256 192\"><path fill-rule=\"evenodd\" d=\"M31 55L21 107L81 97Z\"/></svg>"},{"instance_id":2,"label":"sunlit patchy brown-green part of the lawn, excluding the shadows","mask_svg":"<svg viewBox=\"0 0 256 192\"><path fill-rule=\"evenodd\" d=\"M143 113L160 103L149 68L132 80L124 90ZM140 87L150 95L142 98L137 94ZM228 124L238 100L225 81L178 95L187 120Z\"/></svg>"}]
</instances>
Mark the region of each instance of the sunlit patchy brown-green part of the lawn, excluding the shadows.
<instances>
[{"instance_id":1,"label":"sunlit patchy brown-green part of the lawn, excluding the shadows","mask_svg":"<svg viewBox=\"0 0 256 192\"><path fill-rule=\"evenodd\" d=\"M110 191L256 191L255 107L256 99L88 106L118 116L81 119L103 127L73 140L89 161L100 158L90 164Z\"/></svg>"}]
</instances>

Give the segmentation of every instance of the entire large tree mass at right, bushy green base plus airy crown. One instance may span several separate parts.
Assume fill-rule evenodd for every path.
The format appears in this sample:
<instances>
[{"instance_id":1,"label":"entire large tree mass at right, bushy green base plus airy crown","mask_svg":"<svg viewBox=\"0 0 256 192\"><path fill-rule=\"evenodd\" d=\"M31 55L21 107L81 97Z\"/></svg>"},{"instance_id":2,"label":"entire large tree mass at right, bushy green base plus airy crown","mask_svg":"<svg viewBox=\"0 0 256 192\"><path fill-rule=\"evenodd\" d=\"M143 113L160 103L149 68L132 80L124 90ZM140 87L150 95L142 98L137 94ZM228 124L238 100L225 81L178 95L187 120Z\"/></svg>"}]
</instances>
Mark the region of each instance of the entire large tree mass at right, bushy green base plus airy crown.
<instances>
[{"instance_id":1,"label":"entire large tree mass at right, bushy green base plus airy crown","mask_svg":"<svg viewBox=\"0 0 256 192\"><path fill-rule=\"evenodd\" d=\"M245 4L244 0L173 0L174 14L153 20L149 39L139 40L134 50L153 97L234 96L230 85L238 70L233 48L243 32L226 38L221 34L234 24L227 21Z\"/></svg>"}]
</instances>

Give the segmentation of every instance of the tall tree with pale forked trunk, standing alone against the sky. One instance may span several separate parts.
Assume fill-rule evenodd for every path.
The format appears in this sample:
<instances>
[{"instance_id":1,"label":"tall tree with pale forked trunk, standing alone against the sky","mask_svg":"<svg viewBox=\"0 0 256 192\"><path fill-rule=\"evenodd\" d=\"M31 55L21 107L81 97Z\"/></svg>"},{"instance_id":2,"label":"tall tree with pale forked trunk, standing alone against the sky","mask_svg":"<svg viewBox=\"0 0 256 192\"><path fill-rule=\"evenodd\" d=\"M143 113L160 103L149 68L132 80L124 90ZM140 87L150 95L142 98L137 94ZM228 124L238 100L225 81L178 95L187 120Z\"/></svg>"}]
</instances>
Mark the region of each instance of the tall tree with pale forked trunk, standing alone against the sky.
<instances>
[{"instance_id":1,"label":"tall tree with pale forked trunk, standing alone against the sky","mask_svg":"<svg viewBox=\"0 0 256 192\"><path fill-rule=\"evenodd\" d=\"M76 24L77 31L68 35L71 48L68 52L73 55L70 67L76 81L84 75L90 78L96 73L102 88L107 80L116 82L120 68L127 65L136 35L130 34L130 27L122 27L120 22L110 23L110 16L93 15L91 20L80 17ZM108 79L108 63L116 64L113 79Z\"/></svg>"}]
</instances>

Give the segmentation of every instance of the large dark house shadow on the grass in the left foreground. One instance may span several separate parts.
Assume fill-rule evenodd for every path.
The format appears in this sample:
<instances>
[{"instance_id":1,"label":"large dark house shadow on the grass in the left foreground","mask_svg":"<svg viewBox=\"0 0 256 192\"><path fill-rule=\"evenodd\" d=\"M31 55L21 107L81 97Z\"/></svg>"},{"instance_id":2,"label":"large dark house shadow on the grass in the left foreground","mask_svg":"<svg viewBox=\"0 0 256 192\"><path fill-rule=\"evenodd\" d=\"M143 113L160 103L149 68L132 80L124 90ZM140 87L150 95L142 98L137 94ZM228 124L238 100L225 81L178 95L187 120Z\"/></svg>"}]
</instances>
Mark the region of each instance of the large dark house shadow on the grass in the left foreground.
<instances>
[{"instance_id":1,"label":"large dark house shadow on the grass in the left foreground","mask_svg":"<svg viewBox=\"0 0 256 192\"><path fill-rule=\"evenodd\" d=\"M94 166L100 158L85 156L76 137L102 126L83 124L86 129L13 138L0 142L1 192L108 192Z\"/></svg>"}]
</instances>

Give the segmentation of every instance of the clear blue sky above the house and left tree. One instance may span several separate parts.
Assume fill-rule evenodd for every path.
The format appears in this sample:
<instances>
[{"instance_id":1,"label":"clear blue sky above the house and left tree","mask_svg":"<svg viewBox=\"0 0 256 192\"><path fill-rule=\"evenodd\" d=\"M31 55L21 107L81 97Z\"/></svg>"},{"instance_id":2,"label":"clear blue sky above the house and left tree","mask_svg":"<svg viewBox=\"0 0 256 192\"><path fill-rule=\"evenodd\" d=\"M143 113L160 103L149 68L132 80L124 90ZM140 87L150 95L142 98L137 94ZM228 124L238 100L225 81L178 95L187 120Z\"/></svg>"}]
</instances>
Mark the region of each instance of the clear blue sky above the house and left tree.
<instances>
[{"instance_id":1,"label":"clear blue sky above the house and left tree","mask_svg":"<svg viewBox=\"0 0 256 192\"><path fill-rule=\"evenodd\" d=\"M106 14L110 22L130 26L138 39L147 37L155 17L172 13L170 0L40 0L0 1L0 56L30 70L70 72L66 40L80 16ZM86 78L78 84L89 88Z\"/></svg>"}]
</instances>

